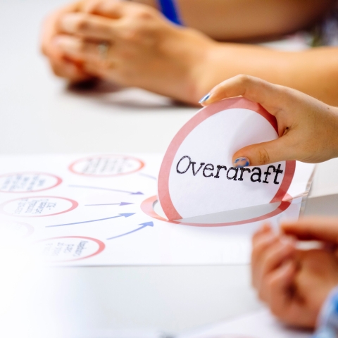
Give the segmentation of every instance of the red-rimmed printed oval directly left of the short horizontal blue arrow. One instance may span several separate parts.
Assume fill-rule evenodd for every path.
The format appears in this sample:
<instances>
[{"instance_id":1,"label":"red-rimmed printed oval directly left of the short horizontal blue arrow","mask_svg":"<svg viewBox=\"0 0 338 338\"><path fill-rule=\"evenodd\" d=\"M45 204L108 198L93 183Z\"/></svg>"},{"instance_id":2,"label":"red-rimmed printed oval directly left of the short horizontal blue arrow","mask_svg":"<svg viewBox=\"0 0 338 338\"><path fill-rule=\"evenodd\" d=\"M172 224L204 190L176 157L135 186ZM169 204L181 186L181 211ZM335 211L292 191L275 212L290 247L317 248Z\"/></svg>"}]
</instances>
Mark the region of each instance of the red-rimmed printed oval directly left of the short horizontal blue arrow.
<instances>
[{"instance_id":1,"label":"red-rimmed printed oval directly left of the short horizontal blue arrow","mask_svg":"<svg viewBox=\"0 0 338 338\"><path fill-rule=\"evenodd\" d=\"M44 217L68 213L77 201L58 196L34 196L12 199L0 204L0 212L15 217Z\"/></svg>"}]
</instances>

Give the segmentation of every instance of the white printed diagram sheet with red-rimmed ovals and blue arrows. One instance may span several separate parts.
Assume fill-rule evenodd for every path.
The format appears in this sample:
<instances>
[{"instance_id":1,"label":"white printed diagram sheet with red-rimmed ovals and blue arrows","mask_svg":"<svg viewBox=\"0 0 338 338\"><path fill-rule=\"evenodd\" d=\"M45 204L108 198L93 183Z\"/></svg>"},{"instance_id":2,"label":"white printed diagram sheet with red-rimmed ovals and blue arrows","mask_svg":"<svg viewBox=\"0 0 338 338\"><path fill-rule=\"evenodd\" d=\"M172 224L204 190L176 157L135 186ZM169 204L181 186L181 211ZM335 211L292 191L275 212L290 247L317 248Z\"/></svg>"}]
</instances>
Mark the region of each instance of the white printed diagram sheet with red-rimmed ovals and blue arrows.
<instances>
[{"instance_id":1,"label":"white printed diagram sheet with red-rimmed ovals and blue arrows","mask_svg":"<svg viewBox=\"0 0 338 338\"><path fill-rule=\"evenodd\" d=\"M264 206L169 221L157 203L162 154L0 156L0 234L52 265L249 263L251 235L298 218L313 165Z\"/></svg>"}]
</instances>

